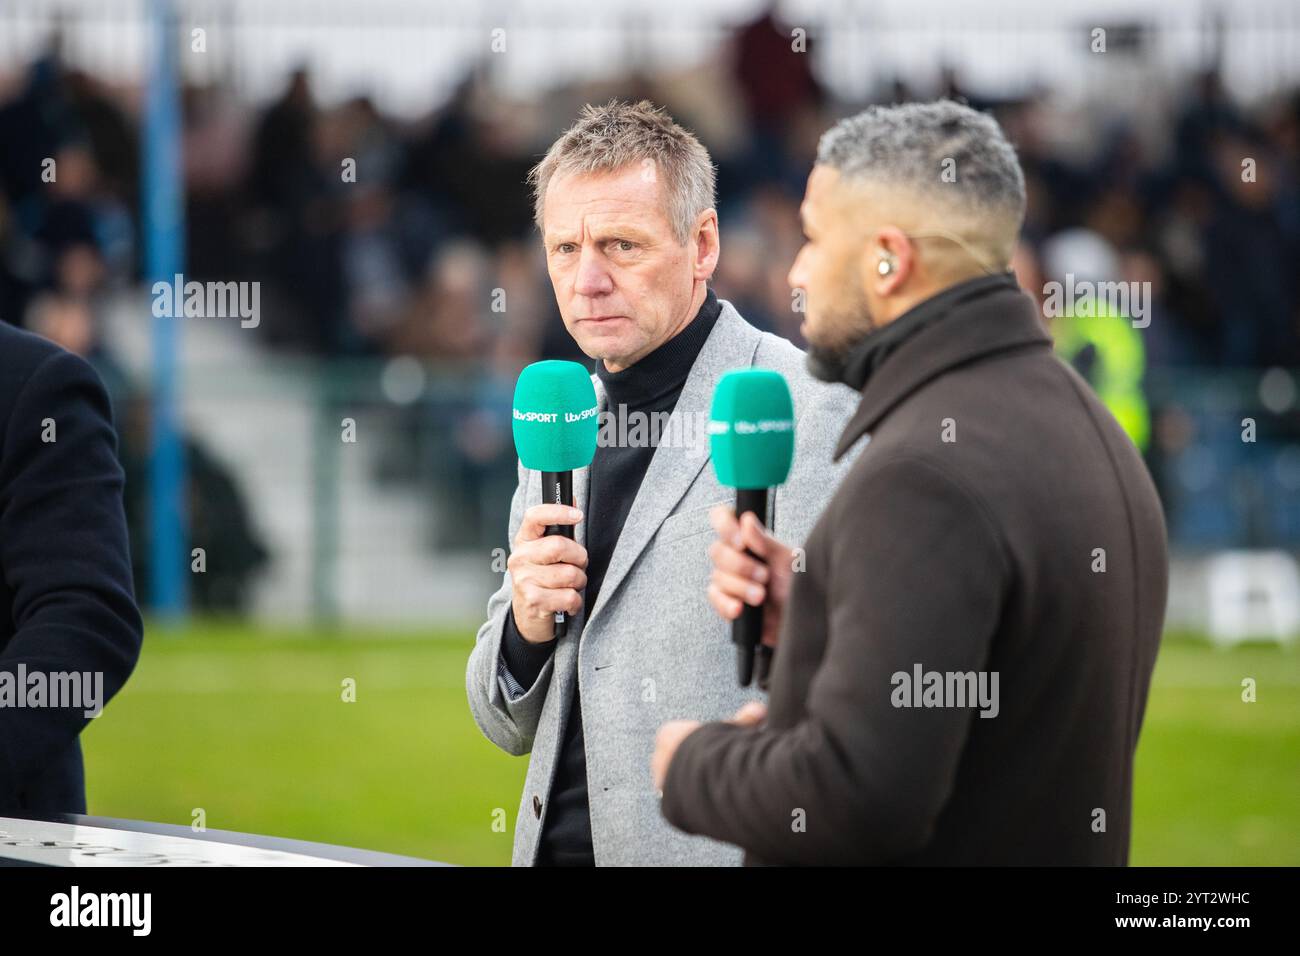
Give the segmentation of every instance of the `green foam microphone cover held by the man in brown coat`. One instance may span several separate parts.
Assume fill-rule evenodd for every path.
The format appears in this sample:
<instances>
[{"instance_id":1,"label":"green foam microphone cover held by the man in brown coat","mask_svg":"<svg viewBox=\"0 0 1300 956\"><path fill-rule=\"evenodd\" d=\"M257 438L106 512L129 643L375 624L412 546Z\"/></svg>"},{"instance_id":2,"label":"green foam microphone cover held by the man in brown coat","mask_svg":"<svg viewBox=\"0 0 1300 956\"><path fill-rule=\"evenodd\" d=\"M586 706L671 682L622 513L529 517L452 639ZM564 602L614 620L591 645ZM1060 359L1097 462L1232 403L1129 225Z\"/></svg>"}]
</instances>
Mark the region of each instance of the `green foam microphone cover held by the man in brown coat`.
<instances>
[{"instance_id":1,"label":"green foam microphone cover held by the man in brown coat","mask_svg":"<svg viewBox=\"0 0 1300 956\"><path fill-rule=\"evenodd\" d=\"M775 488L794 460L794 402L780 372L727 372L714 390L708 451L728 488Z\"/></svg>"}]
</instances>

